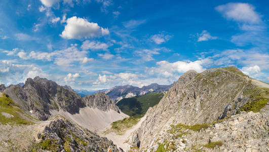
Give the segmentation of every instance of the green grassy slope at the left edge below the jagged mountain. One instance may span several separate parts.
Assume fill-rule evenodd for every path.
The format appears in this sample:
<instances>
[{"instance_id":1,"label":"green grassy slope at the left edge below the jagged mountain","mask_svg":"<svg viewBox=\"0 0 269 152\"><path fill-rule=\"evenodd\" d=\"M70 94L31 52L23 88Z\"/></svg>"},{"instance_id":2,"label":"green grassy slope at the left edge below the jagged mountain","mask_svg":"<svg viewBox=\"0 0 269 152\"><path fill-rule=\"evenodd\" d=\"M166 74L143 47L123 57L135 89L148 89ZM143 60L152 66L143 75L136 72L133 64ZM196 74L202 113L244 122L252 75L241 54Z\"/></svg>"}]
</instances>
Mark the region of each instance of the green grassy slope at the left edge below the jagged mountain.
<instances>
[{"instance_id":1,"label":"green grassy slope at the left edge below the jagged mountain","mask_svg":"<svg viewBox=\"0 0 269 152\"><path fill-rule=\"evenodd\" d=\"M28 121L27 118L32 119L30 115L28 115L23 110L17 108L18 105L11 99L6 97L5 95L0 97L0 123L1 124L19 124L19 125L30 125L32 122ZM3 113L8 113L10 118L5 117Z\"/></svg>"}]
</instances>

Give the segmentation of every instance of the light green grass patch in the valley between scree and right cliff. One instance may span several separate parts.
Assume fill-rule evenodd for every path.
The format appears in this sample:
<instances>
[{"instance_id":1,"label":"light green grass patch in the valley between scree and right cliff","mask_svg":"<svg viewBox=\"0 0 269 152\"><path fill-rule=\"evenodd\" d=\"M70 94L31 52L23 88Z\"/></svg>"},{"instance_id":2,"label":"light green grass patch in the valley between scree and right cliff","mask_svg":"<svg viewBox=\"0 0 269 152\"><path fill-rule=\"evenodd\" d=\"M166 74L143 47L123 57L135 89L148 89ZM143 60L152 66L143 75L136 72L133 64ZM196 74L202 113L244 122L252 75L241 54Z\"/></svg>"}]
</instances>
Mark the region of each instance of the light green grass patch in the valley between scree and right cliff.
<instances>
[{"instance_id":1,"label":"light green grass patch in the valley between scree and right cliff","mask_svg":"<svg viewBox=\"0 0 269 152\"><path fill-rule=\"evenodd\" d=\"M111 128L106 130L104 133L108 134L110 132L116 132L117 134L122 135L125 133L125 130L136 125L138 123L138 121L139 121L139 118L129 117L129 118L125 118L123 120L113 122L111 124Z\"/></svg>"}]
</instances>

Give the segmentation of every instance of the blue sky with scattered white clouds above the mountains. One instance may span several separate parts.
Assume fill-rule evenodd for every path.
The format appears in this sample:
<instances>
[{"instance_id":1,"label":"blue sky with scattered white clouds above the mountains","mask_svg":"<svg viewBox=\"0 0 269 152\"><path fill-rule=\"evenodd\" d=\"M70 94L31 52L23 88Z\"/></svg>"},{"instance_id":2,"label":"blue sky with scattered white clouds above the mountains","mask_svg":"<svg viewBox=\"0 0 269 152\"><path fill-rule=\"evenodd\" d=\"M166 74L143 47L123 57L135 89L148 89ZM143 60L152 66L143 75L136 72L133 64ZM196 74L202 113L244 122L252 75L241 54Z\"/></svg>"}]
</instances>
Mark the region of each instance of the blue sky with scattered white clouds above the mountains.
<instances>
[{"instance_id":1,"label":"blue sky with scattered white clouds above the mountains","mask_svg":"<svg viewBox=\"0 0 269 152\"><path fill-rule=\"evenodd\" d=\"M236 66L269 82L269 1L2 0L0 81L169 85Z\"/></svg>"}]
</instances>

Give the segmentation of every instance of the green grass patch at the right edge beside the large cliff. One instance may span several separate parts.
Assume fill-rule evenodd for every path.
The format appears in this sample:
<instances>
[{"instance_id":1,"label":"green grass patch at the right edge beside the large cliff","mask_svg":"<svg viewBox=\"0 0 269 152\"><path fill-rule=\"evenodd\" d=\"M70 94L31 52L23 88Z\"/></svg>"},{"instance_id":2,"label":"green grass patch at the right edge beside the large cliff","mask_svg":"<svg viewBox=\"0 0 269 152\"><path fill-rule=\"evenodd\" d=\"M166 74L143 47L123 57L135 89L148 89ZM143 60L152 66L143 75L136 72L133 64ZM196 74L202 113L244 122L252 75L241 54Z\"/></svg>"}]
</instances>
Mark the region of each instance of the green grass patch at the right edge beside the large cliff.
<instances>
[{"instance_id":1,"label":"green grass patch at the right edge beside the large cliff","mask_svg":"<svg viewBox=\"0 0 269 152\"><path fill-rule=\"evenodd\" d=\"M244 104L240 111L253 111L259 112L262 107L264 107L269 98L269 88L255 88L246 92L245 94L250 95L251 101Z\"/></svg>"}]
</instances>

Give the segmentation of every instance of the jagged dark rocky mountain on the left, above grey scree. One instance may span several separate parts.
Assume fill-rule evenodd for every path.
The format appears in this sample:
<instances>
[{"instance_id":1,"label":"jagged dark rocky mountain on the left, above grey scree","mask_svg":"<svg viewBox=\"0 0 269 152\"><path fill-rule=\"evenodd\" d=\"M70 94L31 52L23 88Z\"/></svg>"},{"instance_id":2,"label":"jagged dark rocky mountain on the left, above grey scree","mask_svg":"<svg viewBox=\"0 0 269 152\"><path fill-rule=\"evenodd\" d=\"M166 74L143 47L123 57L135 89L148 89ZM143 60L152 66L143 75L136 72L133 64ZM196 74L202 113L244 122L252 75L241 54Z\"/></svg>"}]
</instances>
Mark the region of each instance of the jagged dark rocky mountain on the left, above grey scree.
<instances>
[{"instance_id":1,"label":"jagged dark rocky mountain on the left, above grey scree","mask_svg":"<svg viewBox=\"0 0 269 152\"><path fill-rule=\"evenodd\" d=\"M45 78L28 78L23 87L11 85L4 92L8 94L19 107L30 111L33 117L47 120L50 110L63 109L71 114L78 113L83 103L81 96L69 91L55 82Z\"/></svg>"}]
</instances>

